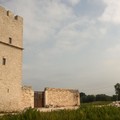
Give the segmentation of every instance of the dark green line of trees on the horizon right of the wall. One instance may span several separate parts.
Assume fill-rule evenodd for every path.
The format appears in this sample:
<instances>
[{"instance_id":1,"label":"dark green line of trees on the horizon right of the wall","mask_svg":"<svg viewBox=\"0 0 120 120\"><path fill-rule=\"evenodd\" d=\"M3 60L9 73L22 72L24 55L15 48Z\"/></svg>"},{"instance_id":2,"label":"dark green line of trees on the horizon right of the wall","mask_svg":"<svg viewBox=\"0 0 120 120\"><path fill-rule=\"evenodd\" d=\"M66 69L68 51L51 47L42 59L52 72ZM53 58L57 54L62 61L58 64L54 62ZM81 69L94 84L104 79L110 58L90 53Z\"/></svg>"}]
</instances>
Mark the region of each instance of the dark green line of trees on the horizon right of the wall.
<instances>
[{"instance_id":1,"label":"dark green line of trees on the horizon right of the wall","mask_svg":"<svg viewBox=\"0 0 120 120\"><path fill-rule=\"evenodd\" d=\"M84 92L80 93L81 103L94 102L94 101L118 101L120 100L120 83L114 85L115 95L108 96L106 94L86 95Z\"/></svg>"}]
</instances>

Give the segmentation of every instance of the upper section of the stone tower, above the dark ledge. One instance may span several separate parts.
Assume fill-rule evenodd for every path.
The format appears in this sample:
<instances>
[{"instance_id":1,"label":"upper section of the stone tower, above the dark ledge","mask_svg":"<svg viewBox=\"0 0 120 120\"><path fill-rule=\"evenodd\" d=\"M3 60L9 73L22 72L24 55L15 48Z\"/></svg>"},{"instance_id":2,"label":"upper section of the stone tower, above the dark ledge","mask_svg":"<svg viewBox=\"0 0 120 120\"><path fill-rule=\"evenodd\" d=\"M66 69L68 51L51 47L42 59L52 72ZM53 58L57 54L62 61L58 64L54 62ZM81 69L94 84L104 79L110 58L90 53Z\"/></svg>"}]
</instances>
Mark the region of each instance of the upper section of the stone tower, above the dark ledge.
<instances>
[{"instance_id":1,"label":"upper section of the stone tower, above the dark ledge","mask_svg":"<svg viewBox=\"0 0 120 120\"><path fill-rule=\"evenodd\" d=\"M23 48L23 18L0 6L0 42Z\"/></svg>"}]
</instances>

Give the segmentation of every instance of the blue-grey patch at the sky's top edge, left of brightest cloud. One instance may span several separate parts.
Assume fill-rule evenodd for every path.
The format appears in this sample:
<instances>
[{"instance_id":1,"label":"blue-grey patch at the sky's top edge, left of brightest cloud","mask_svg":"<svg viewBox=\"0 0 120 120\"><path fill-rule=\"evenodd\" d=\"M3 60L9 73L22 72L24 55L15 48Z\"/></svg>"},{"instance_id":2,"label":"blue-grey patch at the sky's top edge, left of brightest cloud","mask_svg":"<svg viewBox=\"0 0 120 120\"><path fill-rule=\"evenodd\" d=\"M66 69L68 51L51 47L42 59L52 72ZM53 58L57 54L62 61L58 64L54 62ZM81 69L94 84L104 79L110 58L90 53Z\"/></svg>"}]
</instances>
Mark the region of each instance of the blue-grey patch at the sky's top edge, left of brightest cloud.
<instances>
[{"instance_id":1,"label":"blue-grey patch at the sky's top edge, left of brightest cloud","mask_svg":"<svg viewBox=\"0 0 120 120\"><path fill-rule=\"evenodd\" d=\"M74 7L74 14L88 19L96 19L104 12L106 5L103 0L81 0Z\"/></svg>"}]
</instances>

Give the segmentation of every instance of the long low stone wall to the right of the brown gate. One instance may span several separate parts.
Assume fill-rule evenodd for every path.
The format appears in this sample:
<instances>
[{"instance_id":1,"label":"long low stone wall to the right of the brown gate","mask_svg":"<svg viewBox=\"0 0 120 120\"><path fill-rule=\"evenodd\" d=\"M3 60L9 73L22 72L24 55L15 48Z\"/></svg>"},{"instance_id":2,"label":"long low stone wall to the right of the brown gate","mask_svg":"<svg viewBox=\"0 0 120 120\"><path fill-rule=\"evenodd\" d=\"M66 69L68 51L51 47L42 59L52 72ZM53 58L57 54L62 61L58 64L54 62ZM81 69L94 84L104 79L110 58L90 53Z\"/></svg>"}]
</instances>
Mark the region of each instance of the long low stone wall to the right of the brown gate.
<instances>
[{"instance_id":1,"label":"long low stone wall to the right of the brown gate","mask_svg":"<svg viewBox=\"0 0 120 120\"><path fill-rule=\"evenodd\" d=\"M67 107L79 106L80 96L78 90L71 89L45 89L45 106L46 107Z\"/></svg>"}]
</instances>

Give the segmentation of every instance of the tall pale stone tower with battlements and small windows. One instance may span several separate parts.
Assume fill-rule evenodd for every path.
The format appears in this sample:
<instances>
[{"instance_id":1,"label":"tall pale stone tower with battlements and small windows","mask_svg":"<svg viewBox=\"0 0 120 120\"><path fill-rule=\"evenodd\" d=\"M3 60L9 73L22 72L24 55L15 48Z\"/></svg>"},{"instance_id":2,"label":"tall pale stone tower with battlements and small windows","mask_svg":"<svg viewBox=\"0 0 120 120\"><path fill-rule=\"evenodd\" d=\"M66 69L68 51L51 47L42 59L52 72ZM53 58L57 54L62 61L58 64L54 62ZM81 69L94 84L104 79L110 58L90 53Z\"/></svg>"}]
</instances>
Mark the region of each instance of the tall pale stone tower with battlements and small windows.
<instances>
[{"instance_id":1,"label":"tall pale stone tower with battlements and small windows","mask_svg":"<svg viewBox=\"0 0 120 120\"><path fill-rule=\"evenodd\" d=\"M0 111L21 106L23 19L0 7Z\"/></svg>"}]
</instances>

